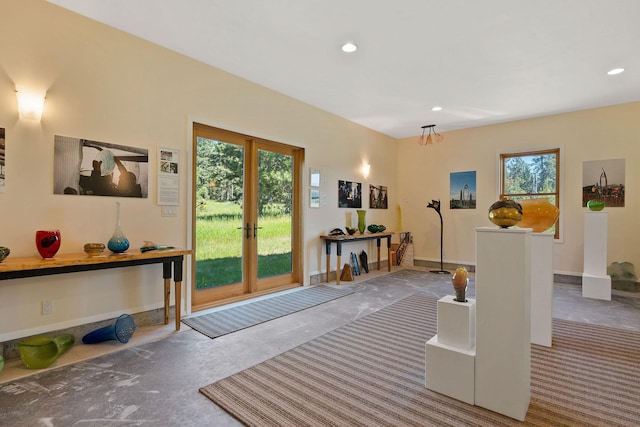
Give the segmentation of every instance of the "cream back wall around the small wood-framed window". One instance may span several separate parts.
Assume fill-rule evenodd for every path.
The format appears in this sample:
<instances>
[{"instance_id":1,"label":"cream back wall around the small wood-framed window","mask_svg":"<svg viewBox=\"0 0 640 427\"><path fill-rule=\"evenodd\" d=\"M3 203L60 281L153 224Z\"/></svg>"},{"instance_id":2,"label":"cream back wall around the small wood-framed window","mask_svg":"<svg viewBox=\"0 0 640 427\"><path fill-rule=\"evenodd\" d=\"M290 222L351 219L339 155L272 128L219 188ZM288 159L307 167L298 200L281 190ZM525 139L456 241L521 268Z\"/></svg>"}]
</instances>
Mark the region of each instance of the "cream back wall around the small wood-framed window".
<instances>
[{"instance_id":1,"label":"cream back wall around the small wood-framed window","mask_svg":"<svg viewBox=\"0 0 640 427\"><path fill-rule=\"evenodd\" d=\"M403 229L414 234L416 259L440 260L440 222L426 205L443 201L445 262L475 264L474 227L493 226L489 206L498 200L498 155L501 152L562 148L563 242L554 245L556 273L580 275L583 266L582 202L584 161L625 159L624 208L609 213L608 260L629 261L640 272L639 205L640 103L559 114L493 126L447 132L439 145L419 146L416 138L398 142L398 201ZM477 209L449 209L449 174L476 171ZM505 248L508 250L508 248Z\"/></svg>"}]
</instances>

